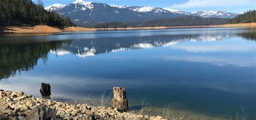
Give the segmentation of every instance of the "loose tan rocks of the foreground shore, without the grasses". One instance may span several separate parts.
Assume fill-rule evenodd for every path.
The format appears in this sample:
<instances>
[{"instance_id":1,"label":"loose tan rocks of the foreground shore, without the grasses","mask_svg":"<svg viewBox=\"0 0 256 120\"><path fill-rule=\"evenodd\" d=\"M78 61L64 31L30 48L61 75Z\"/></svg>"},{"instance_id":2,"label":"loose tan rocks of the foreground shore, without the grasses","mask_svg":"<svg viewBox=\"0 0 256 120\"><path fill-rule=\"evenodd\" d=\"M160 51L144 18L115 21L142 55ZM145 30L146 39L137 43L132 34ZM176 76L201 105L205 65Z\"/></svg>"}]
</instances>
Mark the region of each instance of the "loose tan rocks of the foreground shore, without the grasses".
<instances>
[{"instance_id":1,"label":"loose tan rocks of the foreground shore, without the grasses","mask_svg":"<svg viewBox=\"0 0 256 120\"><path fill-rule=\"evenodd\" d=\"M119 112L116 108L68 104L23 92L0 90L0 119L163 119Z\"/></svg>"}]
</instances>

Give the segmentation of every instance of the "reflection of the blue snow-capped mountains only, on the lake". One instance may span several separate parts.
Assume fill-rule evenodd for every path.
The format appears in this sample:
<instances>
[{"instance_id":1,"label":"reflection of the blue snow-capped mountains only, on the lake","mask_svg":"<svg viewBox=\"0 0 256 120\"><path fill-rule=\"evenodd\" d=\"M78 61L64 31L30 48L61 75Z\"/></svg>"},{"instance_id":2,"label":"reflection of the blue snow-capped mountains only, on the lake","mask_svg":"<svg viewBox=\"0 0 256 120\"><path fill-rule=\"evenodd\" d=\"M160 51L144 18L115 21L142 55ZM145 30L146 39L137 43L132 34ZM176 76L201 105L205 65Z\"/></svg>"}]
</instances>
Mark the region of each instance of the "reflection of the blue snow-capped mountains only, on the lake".
<instances>
[{"instance_id":1,"label":"reflection of the blue snow-capped mountains only, on the lake","mask_svg":"<svg viewBox=\"0 0 256 120\"><path fill-rule=\"evenodd\" d=\"M219 41L228 37L230 37L230 34L179 34L173 36L84 39L73 40L70 46L51 51L51 53L56 55L72 53L84 58L109 52L171 46L183 41Z\"/></svg>"}]
</instances>

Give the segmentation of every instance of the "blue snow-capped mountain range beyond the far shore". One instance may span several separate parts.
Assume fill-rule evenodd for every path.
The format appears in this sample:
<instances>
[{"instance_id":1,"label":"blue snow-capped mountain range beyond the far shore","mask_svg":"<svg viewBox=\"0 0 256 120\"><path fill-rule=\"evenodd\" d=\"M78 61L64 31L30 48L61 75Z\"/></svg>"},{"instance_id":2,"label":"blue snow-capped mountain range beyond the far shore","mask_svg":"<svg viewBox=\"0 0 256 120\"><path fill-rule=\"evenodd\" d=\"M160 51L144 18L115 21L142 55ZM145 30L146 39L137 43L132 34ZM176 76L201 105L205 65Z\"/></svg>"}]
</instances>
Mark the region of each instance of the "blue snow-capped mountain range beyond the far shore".
<instances>
[{"instance_id":1,"label":"blue snow-capped mountain range beyond the far shore","mask_svg":"<svg viewBox=\"0 0 256 120\"><path fill-rule=\"evenodd\" d=\"M68 5L52 4L45 10L56 11L60 15L69 16L78 26L105 22L145 22L155 19L198 16L204 18L233 18L237 13L225 11L194 11L184 12L151 6L121 6L105 3L85 2L76 0ZM83 25L84 26L84 25Z\"/></svg>"}]
</instances>

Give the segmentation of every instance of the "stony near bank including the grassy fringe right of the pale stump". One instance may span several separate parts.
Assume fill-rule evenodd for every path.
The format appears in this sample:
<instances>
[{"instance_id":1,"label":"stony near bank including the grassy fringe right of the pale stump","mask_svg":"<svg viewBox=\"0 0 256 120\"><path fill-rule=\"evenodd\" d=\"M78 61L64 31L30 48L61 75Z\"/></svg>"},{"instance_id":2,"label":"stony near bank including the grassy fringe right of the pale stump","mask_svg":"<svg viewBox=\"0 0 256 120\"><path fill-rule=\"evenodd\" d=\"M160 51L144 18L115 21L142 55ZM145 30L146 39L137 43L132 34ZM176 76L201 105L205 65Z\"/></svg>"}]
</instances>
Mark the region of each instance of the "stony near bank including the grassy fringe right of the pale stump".
<instances>
[{"instance_id":1,"label":"stony near bank including the grassy fringe right of the pale stump","mask_svg":"<svg viewBox=\"0 0 256 120\"><path fill-rule=\"evenodd\" d=\"M173 118L176 116L179 119L226 119L224 117L210 117L205 115L192 114L192 112L173 111L172 108L154 108L150 107L143 109L143 111L128 111L119 112L116 108L104 107L100 105L91 105L87 103L70 103L58 100L49 100L44 98L37 98L32 95L26 95L22 91L4 91L0 90L0 119L1 117L12 118L29 118L29 114L33 114L34 109L38 109L38 106L44 105L48 109L55 111L52 117L59 119L87 119L90 116L95 116L97 119L154 119L154 120L167 120L167 118ZM163 109L169 110L167 115L158 116L158 114L152 114L152 112L161 112ZM52 112L52 111L51 111Z\"/></svg>"}]
</instances>

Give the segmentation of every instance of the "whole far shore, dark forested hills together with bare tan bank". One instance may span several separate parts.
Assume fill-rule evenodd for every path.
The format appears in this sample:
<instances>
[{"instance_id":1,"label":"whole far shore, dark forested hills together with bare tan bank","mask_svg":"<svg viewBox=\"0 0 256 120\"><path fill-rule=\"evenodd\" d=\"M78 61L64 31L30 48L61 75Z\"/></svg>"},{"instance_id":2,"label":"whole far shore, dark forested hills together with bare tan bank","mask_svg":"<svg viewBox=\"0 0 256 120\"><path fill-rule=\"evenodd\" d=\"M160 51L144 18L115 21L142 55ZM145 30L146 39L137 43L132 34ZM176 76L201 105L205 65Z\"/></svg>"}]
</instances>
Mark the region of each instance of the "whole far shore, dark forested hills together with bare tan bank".
<instances>
[{"instance_id":1,"label":"whole far shore, dark forested hills together with bare tan bank","mask_svg":"<svg viewBox=\"0 0 256 120\"><path fill-rule=\"evenodd\" d=\"M255 27L255 10L232 19L201 18L195 16L156 19L138 23L109 22L77 27L70 17L46 11L41 0L0 0L1 33L56 33L65 31L172 29L190 27ZM234 25L235 24L235 25Z\"/></svg>"}]
</instances>

